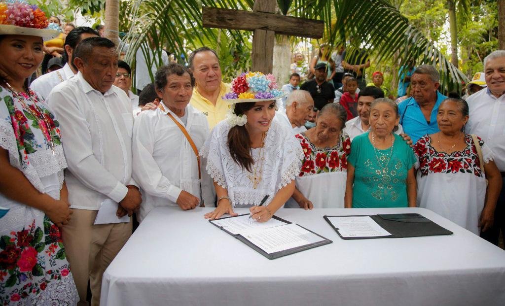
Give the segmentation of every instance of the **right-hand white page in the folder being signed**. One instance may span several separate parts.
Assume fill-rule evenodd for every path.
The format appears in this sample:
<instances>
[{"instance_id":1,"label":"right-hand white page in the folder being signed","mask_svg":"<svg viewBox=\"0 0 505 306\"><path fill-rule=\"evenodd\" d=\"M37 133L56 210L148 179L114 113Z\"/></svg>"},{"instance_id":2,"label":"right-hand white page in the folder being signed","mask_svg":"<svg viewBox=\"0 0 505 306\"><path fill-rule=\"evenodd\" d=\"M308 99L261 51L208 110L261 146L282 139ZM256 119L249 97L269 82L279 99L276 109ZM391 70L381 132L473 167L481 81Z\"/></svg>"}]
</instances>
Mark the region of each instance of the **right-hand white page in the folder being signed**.
<instances>
[{"instance_id":1,"label":"right-hand white page in the folder being signed","mask_svg":"<svg viewBox=\"0 0 505 306\"><path fill-rule=\"evenodd\" d=\"M269 254L324 240L294 223L250 230L242 236Z\"/></svg>"}]
</instances>

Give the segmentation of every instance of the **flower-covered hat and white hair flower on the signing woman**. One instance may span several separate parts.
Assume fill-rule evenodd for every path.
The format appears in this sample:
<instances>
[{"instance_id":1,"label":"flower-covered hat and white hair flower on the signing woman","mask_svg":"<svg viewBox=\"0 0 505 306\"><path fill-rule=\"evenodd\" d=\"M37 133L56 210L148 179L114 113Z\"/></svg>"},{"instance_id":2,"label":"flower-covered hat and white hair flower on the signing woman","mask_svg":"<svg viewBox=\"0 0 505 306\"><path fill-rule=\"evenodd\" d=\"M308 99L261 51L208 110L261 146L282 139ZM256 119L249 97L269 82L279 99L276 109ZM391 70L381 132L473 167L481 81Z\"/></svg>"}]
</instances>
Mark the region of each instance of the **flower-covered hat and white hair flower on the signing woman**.
<instances>
[{"instance_id":1,"label":"flower-covered hat and white hair flower on the signing woman","mask_svg":"<svg viewBox=\"0 0 505 306\"><path fill-rule=\"evenodd\" d=\"M247 72L233 79L231 92L222 99L231 103L226 119L231 126L242 126L247 122L244 114L235 114L235 104L242 102L260 102L282 98L286 93L279 89L275 77L261 72Z\"/></svg>"}]
</instances>

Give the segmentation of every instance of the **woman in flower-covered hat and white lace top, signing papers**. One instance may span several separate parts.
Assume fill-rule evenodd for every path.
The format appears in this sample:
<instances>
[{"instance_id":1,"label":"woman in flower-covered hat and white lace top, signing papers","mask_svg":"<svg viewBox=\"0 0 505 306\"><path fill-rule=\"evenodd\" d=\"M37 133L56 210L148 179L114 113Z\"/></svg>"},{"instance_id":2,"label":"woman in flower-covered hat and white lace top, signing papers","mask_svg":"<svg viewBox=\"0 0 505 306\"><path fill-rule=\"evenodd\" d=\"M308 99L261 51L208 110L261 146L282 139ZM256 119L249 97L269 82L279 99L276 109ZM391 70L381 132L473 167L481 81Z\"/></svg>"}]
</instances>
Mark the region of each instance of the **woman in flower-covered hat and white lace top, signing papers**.
<instances>
[{"instance_id":1,"label":"woman in flower-covered hat and white lace top, signing papers","mask_svg":"<svg viewBox=\"0 0 505 306\"><path fill-rule=\"evenodd\" d=\"M248 207L252 218L268 221L294 190L303 152L292 129L275 116L275 99L282 91L272 75L242 74L232 82L227 120L214 127L201 155L214 179L217 209L205 215L217 219L236 215L233 207ZM264 206L258 206L269 195Z\"/></svg>"}]
</instances>

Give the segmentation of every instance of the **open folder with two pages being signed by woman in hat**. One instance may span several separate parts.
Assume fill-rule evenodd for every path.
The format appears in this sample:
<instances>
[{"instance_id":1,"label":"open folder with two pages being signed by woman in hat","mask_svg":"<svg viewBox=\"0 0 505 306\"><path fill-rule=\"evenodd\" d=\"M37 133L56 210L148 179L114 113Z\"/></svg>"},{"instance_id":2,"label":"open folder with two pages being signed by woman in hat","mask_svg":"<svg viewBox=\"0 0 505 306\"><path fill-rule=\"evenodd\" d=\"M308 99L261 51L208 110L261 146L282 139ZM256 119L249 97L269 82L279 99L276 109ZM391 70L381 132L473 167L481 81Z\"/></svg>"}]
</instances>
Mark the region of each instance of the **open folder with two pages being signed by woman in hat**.
<instances>
[{"instance_id":1,"label":"open folder with two pages being signed by woman in hat","mask_svg":"<svg viewBox=\"0 0 505 306\"><path fill-rule=\"evenodd\" d=\"M276 259L332 242L313 231L276 216L267 222L249 219L249 214L209 222L268 259Z\"/></svg>"}]
</instances>

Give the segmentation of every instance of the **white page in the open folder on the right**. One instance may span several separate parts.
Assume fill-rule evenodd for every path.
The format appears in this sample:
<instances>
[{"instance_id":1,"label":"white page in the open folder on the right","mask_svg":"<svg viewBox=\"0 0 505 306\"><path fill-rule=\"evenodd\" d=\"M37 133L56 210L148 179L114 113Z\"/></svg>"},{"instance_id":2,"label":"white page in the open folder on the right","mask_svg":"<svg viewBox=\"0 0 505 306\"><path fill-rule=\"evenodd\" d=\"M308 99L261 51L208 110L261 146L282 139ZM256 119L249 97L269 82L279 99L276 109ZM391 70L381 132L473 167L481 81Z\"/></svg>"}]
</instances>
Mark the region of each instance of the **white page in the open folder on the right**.
<instances>
[{"instance_id":1,"label":"white page in the open folder on the right","mask_svg":"<svg viewBox=\"0 0 505 306\"><path fill-rule=\"evenodd\" d=\"M342 237L384 237L391 233L370 216L327 217Z\"/></svg>"}]
</instances>

